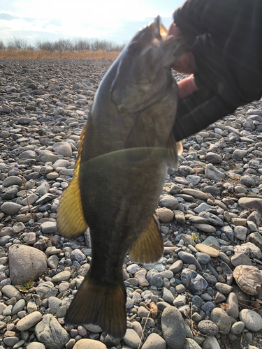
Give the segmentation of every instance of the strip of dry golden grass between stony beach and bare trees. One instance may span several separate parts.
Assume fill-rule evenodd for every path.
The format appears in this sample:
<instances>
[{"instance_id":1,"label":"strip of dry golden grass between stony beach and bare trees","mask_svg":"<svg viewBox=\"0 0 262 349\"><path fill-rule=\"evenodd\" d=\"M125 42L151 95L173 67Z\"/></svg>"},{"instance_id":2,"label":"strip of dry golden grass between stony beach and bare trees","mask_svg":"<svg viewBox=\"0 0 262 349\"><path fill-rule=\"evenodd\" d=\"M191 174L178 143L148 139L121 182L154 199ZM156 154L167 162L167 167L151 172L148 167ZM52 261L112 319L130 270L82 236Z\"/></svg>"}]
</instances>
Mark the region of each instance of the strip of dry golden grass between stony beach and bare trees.
<instances>
[{"instance_id":1,"label":"strip of dry golden grass between stony beach and bare trees","mask_svg":"<svg viewBox=\"0 0 262 349\"><path fill-rule=\"evenodd\" d=\"M41 51L41 50L0 50L0 59L115 59L119 51Z\"/></svg>"}]
</instances>

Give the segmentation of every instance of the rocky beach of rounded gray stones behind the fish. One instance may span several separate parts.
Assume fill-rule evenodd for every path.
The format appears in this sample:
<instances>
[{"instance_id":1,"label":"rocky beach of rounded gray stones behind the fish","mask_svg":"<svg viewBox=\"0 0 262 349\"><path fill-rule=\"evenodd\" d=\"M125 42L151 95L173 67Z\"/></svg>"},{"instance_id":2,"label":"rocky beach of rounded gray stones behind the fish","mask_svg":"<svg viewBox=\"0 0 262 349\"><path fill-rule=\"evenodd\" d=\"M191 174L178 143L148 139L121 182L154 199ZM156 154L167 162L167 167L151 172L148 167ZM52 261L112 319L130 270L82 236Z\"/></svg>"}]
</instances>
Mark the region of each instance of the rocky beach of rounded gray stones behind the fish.
<instances>
[{"instance_id":1,"label":"rocky beach of rounded gray stones behind the fish","mask_svg":"<svg viewBox=\"0 0 262 349\"><path fill-rule=\"evenodd\" d=\"M61 237L56 212L112 61L0 59L0 349L262 349L262 101L183 141L163 258L124 261L124 338L65 325L92 246Z\"/></svg>"}]
</instances>

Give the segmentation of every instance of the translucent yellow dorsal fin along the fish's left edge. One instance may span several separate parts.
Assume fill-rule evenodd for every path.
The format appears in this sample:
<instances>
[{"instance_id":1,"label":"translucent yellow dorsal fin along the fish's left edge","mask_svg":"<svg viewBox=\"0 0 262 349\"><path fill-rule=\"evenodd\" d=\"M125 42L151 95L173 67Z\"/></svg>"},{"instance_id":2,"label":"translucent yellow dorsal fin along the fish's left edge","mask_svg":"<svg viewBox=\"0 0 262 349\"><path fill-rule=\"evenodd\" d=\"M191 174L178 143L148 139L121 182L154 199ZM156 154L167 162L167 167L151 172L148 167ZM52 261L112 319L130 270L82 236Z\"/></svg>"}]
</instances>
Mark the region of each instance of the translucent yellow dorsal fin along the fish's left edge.
<instances>
[{"instance_id":1,"label":"translucent yellow dorsal fin along the fish's left edge","mask_svg":"<svg viewBox=\"0 0 262 349\"><path fill-rule=\"evenodd\" d=\"M64 237L78 237L88 228L82 211L79 183L79 170L84 138L85 128L81 135L78 158L75 161L73 180L61 196L57 209L57 228Z\"/></svg>"}]
</instances>

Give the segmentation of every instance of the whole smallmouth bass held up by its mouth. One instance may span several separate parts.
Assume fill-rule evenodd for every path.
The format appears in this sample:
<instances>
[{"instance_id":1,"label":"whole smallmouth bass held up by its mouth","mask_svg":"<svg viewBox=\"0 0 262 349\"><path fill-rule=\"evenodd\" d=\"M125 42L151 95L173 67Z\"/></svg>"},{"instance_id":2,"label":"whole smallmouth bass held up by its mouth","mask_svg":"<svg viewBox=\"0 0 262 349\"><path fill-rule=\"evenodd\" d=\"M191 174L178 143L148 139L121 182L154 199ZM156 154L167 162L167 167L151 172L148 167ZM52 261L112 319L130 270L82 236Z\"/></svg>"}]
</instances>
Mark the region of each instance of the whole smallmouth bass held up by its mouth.
<instances>
[{"instance_id":1,"label":"whole smallmouth bass held up by its mouth","mask_svg":"<svg viewBox=\"0 0 262 349\"><path fill-rule=\"evenodd\" d=\"M186 50L182 38L165 34L157 17L103 77L57 210L61 235L75 238L89 227L92 241L91 267L65 322L99 325L116 338L126 332L127 251L142 264L163 254L154 211L168 165L177 165L171 130L178 89L170 65Z\"/></svg>"}]
</instances>

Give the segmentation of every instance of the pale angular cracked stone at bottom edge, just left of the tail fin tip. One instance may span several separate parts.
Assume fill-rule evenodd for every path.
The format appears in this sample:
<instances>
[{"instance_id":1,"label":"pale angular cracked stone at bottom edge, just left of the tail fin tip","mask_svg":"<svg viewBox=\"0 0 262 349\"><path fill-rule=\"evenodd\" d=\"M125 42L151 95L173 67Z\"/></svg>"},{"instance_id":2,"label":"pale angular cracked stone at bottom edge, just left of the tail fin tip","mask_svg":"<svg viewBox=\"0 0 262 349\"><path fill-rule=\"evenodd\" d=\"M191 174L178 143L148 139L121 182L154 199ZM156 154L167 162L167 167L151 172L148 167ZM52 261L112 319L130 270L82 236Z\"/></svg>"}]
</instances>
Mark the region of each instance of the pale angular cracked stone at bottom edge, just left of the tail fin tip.
<instances>
[{"instance_id":1,"label":"pale angular cracked stone at bottom edge, just left of the tail fin tip","mask_svg":"<svg viewBox=\"0 0 262 349\"><path fill-rule=\"evenodd\" d=\"M47 314L41 322L38 322L35 328L38 341L45 345L47 349L61 349L69 341L70 336L66 330L61 327L53 315Z\"/></svg>"}]
</instances>

